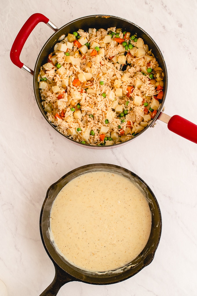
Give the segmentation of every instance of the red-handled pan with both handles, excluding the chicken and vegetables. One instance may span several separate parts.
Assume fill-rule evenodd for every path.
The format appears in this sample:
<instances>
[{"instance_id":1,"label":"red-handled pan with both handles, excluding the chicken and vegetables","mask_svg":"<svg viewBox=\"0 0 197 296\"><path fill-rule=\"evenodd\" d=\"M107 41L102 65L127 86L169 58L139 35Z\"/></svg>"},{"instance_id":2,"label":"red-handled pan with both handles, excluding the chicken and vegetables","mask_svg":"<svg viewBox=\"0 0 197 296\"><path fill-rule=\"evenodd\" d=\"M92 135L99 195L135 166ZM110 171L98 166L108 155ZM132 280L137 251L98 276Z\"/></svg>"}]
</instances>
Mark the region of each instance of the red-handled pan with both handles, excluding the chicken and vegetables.
<instances>
[{"instance_id":1,"label":"red-handled pan with both handles, excluding the chicken and vegetables","mask_svg":"<svg viewBox=\"0 0 197 296\"><path fill-rule=\"evenodd\" d=\"M34 71L31 70L29 67L24 65L22 62L20 62L20 53L21 50L25 44L25 41L27 40L29 34L35 28L35 26L39 22L44 22L47 25L49 25L50 28L52 28L55 33L46 41L45 45L41 49L41 52L38 55L37 61L35 63L35 68ZM154 123L157 118L160 120L168 123L168 128L169 130L179 134L180 136L183 136L186 139L189 139L190 141L193 141L197 143L197 126L194 123L191 123L190 121L178 116L174 115L172 117L164 114L162 111L164 101L166 98L166 93L167 93L167 84L168 84L168 79L167 79L167 69L166 69L166 64L164 62L163 55L159 49L159 47L156 45L154 40L140 27L137 25L133 24L130 21L124 20L120 17L114 17L114 16L107 16L107 15L91 15L91 16L86 16L79 18L77 20L69 22L67 25L64 25L62 28L58 29L47 17L40 13L35 13L30 16L30 18L25 22L23 27L21 28L20 32L18 33L13 45L12 49L10 52L10 58L12 62L17 65L18 67L22 68L23 70L27 71L31 75L33 75L33 88L34 88L34 94L35 94L35 99L38 104L38 107L44 116L44 118L47 120L47 122L56 130L56 127L48 120L46 116L46 112L43 109L42 106L42 100L40 96L40 91L38 89L38 74L40 72L40 67L41 65L46 63L46 59L48 55L51 53L51 49L53 50L54 45L58 42L58 39L61 35L65 34L67 36L68 33L77 31L80 28L83 30L88 30L88 28L110 28L110 27L117 27L117 28L122 28L123 31L126 30L128 32L131 32L131 34L137 34L138 37L141 37L145 44L148 44L149 49L152 49L152 52L154 56L156 57L157 61L159 62L159 66L162 67L163 72L164 72L164 95L163 95L163 100L162 103L160 104L160 107L158 108L158 112L155 116L155 118L149 123L149 125L139 134L137 134L135 137L119 143L119 144L114 144L114 145L109 145L109 146L95 146L95 145L88 145L88 144L82 144L79 143L75 140L70 139L69 137L65 136L67 139L73 141L75 144L78 145L83 145L89 148L94 148L94 149L109 149L113 147L117 147L120 145L123 145L129 141L132 141L133 139L137 138L140 136L142 133L144 133L148 127L154 126ZM58 131L59 132L59 131ZM60 132L59 132L60 133Z\"/></svg>"}]
</instances>

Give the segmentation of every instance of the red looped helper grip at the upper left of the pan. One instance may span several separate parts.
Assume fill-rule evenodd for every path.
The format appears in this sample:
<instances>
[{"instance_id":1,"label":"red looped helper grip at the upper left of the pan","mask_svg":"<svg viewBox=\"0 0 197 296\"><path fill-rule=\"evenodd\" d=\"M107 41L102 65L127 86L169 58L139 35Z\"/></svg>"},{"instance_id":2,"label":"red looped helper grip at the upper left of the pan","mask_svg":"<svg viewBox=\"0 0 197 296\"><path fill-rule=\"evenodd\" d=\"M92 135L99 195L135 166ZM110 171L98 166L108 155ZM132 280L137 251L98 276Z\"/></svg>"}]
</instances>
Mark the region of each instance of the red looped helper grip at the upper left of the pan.
<instances>
[{"instance_id":1,"label":"red looped helper grip at the upper left of the pan","mask_svg":"<svg viewBox=\"0 0 197 296\"><path fill-rule=\"evenodd\" d=\"M28 18L28 20L22 26L18 35L16 36L16 39L14 40L14 43L10 51L10 59L12 63L19 68L22 68L22 66L24 65L20 61L20 53L22 51L22 48L30 33L33 31L35 26L38 25L39 22L44 22L45 24L47 24L49 22L49 19L41 13L34 13Z\"/></svg>"}]
</instances>

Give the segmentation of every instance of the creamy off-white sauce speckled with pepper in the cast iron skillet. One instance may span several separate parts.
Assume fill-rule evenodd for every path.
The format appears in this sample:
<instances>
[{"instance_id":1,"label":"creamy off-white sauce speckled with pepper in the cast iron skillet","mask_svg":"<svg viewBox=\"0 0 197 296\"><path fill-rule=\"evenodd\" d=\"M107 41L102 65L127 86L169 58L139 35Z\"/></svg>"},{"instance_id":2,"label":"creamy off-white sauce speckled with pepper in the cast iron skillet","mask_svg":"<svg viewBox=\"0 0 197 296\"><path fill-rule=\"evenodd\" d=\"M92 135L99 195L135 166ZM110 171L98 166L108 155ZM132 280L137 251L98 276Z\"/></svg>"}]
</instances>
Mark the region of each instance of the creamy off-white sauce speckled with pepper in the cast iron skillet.
<instances>
[{"instance_id":1,"label":"creamy off-white sauce speckled with pepper in the cast iron skillet","mask_svg":"<svg viewBox=\"0 0 197 296\"><path fill-rule=\"evenodd\" d=\"M145 247L151 231L146 197L126 177L99 171L78 176L57 195L50 231L59 254L91 272L125 266Z\"/></svg>"}]
</instances>

